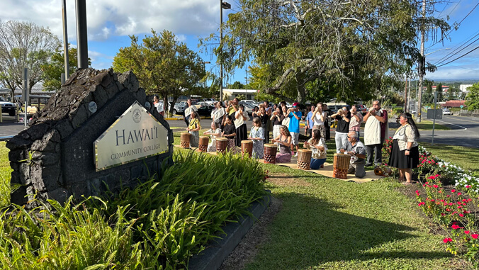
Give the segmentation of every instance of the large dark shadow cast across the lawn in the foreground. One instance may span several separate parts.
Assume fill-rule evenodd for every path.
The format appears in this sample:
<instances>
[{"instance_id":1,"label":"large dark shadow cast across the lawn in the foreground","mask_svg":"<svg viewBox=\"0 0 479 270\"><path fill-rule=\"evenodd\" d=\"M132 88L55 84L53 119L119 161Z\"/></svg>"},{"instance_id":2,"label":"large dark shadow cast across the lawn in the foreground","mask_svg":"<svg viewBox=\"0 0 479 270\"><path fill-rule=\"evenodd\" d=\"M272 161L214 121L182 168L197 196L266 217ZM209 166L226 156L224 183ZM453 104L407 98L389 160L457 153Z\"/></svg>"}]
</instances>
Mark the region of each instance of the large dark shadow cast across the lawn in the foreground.
<instances>
[{"instance_id":1,"label":"large dark shadow cast across the lawn in the foreground","mask_svg":"<svg viewBox=\"0 0 479 270\"><path fill-rule=\"evenodd\" d=\"M415 252L415 241L402 241L417 237L410 233L414 227L343 213L342 206L305 194L282 193L279 198L283 209L269 226L271 240L249 269L308 269L329 261L451 257L447 252ZM385 250L371 250L375 247Z\"/></svg>"}]
</instances>

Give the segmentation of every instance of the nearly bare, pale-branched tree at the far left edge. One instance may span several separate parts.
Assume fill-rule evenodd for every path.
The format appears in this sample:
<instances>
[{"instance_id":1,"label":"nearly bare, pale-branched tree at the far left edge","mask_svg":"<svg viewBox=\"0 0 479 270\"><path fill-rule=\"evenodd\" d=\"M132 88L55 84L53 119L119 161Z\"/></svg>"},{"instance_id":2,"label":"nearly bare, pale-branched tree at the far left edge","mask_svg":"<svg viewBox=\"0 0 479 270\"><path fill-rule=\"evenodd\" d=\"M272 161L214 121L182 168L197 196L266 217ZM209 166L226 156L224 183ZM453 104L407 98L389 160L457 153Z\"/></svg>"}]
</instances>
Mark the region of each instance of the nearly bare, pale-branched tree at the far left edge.
<instances>
[{"instance_id":1,"label":"nearly bare, pale-branched tree at the far left edge","mask_svg":"<svg viewBox=\"0 0 479 270\"><path fill-rule=\"evenodd\" d=\"M0 82L13 90L23 87L23 68L30 72L28 91L43 79L42 65L50 62L60 40L50 29L25 21L0 21Z\"/></svg>"}]
</instances>

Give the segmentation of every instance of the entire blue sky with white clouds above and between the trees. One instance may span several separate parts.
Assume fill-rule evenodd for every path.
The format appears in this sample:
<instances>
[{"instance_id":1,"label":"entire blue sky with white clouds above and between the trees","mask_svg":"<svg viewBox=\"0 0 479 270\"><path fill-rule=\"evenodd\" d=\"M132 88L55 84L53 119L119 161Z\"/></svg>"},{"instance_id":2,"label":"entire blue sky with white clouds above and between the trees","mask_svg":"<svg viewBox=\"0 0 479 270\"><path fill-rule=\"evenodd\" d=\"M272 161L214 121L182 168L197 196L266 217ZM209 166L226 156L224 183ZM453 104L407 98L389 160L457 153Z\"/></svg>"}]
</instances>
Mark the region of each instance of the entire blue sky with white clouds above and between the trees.
<instances>
[{"instance_id":1,"label":"entire blue sky with white clouds above and between the trees","mask_svg":"<svg viewBox=\"0 0 479 270\"><path fill-rule=\"evenodd\" d=\"M223 12L227 14L238 10L236 1L229 1L232 9ZM461 25L457 30L451 30L449 39L444 43L436 43L429 38L426 43L427 61L435 64L441 58L453 52L459 45L465 43L474 35L479 34L475 18L479 16L477 0L451 0L436 6L436 14L441 17L449 16L449 23ZM76 44L74 0L67 0L68 39L72 45ZM211 33L218 35L220 25L220 4L218 0L87 0L87 25L89 34L89 57L92 67L104 69L111 67L113 57L120 47L130 45L128 35L138 35L143 38L151 29L161 32L170 30L176 37L186 43L191 50L199 51L198 38L205 38ZM467 17L466 15L473 10ZM32 21L40 26L46 26L62 39L62 1L61 0L1 0L0 19L2 21L22 20ZM475 37L473 40L479 38ZM472 41L472 40L471 40ZM419 43L418 43L419 44ZM479 46L479 41L470 45L454 58ZM447 49L446 49L447 48ZM206 69L218 72L215 57L211 50L201 52ZM427 79L478 79L479 50L471 52L451 64L439 67L434 73L427 73ZM245 69L238 69L226 82L245 82Z\"/></svg>"}]
</instances>

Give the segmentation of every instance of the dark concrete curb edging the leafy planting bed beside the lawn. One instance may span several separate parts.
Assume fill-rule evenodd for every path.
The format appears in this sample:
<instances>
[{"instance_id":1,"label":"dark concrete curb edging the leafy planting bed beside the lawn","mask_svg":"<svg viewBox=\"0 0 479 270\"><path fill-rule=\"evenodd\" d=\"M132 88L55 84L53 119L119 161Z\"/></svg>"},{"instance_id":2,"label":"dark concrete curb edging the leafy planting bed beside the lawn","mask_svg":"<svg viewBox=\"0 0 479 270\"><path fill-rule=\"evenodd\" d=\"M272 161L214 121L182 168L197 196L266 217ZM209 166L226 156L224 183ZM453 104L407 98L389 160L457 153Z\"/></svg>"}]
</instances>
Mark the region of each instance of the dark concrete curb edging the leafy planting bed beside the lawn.
<instances>
[{"instance_id":1,"label":"dark concrete curb edging the leafy planting bed beside the lawn","mask_svg":"<svg viewBox=\"0 0 479 270\"><path fill-rule=\"evenodd\" d=\"M239 218L237 223L227 223L223 227L225 234L219 235L222 239L211 240L208 247L201 254L195 255L190 259L188 269L213 270L220 268L222 262L235 249L249 228L252 227L254 221L259 219L270 203L271 191L268 191L260 201L252 203L252 206L249 207L248 211L252 213L254 218L247 215Z\"/></svg>"}]
</instances>

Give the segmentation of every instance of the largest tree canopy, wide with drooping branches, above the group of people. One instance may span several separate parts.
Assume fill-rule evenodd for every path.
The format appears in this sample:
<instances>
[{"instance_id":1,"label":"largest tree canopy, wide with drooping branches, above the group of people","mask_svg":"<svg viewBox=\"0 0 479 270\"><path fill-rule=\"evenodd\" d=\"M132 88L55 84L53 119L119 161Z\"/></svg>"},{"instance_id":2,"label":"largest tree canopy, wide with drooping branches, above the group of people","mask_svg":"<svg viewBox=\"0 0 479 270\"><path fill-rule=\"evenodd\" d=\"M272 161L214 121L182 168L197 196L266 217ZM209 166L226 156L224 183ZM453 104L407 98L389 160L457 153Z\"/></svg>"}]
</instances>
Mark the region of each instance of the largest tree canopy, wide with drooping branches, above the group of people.
<instances>
[{"instance_id":1,"label":"largest tree canopy, wide with drooping branches, above the group of people","mask_svg":"<svg viewBox=\"0 0 479 270\"><path fill-rule=\"evenodd\" d=\"M285 99L303 101L306 89L367 99L420 60L421 27L434 26L440 38L449 30L442 20L423 20L420 2L239 0L241 11L223 27L218 61L228 71L253 61L261 89Z\"/></svg>"}]
</instances>

